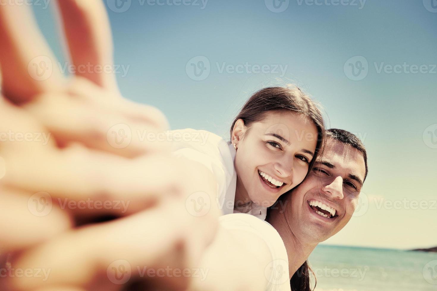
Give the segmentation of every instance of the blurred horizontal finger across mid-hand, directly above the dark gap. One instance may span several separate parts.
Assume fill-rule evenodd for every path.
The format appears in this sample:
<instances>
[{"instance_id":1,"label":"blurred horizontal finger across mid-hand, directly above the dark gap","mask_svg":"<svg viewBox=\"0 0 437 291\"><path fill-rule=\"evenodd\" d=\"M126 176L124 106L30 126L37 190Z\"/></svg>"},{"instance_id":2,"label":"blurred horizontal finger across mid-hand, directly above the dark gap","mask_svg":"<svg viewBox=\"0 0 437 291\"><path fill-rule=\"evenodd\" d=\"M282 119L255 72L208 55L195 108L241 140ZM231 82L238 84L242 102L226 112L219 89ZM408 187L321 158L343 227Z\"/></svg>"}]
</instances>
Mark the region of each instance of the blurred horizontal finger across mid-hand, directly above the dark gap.
<instances>
[{"instance_id":1,"label":"blurred horizontal finger across mid-hand, directly above the dark gap","mask_svg":"<svg viewBox=\"0 0 437 291\"><path fill-rule=\"evenodd\" d=\"M10 151L4 158L5 185L47 192L73 212L124 216L150 207L163 195L180 195L183 167L171 156L127 159L78 144L55 153Z\"/></svg>"}]
</instances>

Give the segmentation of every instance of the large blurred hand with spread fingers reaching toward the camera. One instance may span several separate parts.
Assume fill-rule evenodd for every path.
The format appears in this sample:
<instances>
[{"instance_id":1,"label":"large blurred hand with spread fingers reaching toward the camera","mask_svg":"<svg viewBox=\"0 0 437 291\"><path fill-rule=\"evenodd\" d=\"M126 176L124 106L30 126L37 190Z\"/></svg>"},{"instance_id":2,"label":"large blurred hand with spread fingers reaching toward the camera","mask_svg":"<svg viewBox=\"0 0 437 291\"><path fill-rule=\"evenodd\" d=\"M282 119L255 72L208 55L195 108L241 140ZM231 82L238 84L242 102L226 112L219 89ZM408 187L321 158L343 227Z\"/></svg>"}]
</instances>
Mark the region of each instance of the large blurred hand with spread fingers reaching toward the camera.
<instances>
[{"instance_id":1,"label":"large blurred hand with spread fingers reaching toward the camera","mask_svg":"<svg viewBox=\"0 0 437 291\"><path fill-rule=\"evenodd\" d=\"M114 283L108 270L125 260L141 284L184 288L189 278L155 282L136 267L195 265L219 210L211 203L193 215L186 201L199 191L215 201L212 177L175 160L167 142L135 134L166 130L159 110L123 99L113 74L66 79L28 7L0 4L0 244L14 270L50 270L47 278L8 275L0 284L119 290L132 281ZM73 65L112 65L102 1L62 0L59 8ZM90 224L108 217L118 219Z\"/></svg>"}]
</instances>

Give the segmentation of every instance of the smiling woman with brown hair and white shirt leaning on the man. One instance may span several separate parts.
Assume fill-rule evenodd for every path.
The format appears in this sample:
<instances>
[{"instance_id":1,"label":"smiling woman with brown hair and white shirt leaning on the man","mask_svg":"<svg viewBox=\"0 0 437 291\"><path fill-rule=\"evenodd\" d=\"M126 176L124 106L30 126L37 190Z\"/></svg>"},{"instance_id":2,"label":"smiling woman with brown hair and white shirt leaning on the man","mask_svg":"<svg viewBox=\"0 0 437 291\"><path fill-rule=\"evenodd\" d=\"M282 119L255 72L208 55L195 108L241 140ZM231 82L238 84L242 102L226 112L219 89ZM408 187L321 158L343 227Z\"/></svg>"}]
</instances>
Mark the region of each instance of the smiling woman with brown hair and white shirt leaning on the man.
<instances>
[{"instance_id":1,"label":"smiling woman with brown hair and white shirt leaning on the man","mask_svg":"<svg viewBox=\"0 0 437 291\"><path fill-rule=\"evenodd\" d=\"M244 104L232 122L230 142L204 130L177 130L172 134L185 138L173 142L173 151L212 171L223 214L265 219L267 207L308 174L323 130L322 114L309 96L296 86L271 87Z\"/></svg>"}]
</instances>

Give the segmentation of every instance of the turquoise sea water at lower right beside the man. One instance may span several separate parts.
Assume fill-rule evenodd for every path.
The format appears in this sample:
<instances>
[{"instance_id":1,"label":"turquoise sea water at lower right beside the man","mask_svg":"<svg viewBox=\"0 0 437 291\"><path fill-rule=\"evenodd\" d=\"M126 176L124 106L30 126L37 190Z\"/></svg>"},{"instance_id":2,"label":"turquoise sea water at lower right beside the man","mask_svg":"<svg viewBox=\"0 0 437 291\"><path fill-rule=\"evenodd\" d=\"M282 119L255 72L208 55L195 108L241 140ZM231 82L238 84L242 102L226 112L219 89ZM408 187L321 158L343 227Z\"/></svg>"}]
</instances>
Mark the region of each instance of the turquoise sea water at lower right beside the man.
<instances>
[{"instance_id":1,"label":"turquoise sea water at lower right beside the man","mask_svg":"<svg viewBox=\"0 0 437 291\"><path fill-rule=\"evenodd\" d=\"M316 291L437 291L437 253L319 245Z\"/></svg>"}]
</instances>

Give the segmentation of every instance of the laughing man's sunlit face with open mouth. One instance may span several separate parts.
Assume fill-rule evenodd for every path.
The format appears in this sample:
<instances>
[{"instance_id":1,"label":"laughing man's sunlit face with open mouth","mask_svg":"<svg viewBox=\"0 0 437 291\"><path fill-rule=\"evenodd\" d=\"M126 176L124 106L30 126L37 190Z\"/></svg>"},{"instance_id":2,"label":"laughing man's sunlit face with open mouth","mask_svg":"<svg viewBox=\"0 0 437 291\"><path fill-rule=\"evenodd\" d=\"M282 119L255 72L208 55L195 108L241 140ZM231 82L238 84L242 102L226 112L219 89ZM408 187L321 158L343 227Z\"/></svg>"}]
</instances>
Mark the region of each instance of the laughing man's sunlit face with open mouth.
<instances>
[{"instance_id":1,"label":"laughing man's sunlit face with open mouth","mask_svg":"<svg viewBox=\"0 0 437 291\"><path fill-rule=\"evenodd\" d=\"M285 216L293 233L314 243L338 233L357 207L364 176L363 154L328 137L323 156L291 193Z\"/></svg>"}]
</instances>

